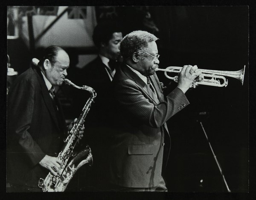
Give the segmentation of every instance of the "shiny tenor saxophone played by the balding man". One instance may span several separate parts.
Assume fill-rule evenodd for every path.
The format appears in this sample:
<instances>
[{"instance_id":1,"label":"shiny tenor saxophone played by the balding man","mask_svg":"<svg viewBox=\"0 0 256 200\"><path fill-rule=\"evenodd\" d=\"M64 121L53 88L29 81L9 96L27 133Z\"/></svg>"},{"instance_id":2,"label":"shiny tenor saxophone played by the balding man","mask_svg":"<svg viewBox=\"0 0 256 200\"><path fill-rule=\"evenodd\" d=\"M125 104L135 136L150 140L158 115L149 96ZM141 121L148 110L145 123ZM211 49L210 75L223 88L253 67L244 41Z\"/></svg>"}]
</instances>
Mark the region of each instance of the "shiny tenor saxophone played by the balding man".
<instances>
[{"instance_id":1,"label":"shiny tenor saxophone played by the balding man","mask_svg":"<svg viewBox=\"0 0 256 200\"><path fill-rule=\"evenodd\" d=\"M91 104L94 102L96 97L96 92L89 86L79 87L76 86L68 79L64 79L64 82L78 89L83 89L90 92L90 98L84 105L82 113L80 114L76 123L74 123L73 128L70 130L67 138L64 140L64 146L58 154L58 159L62 161L61 173L54 175L51 172L48 173L45 179L40 178L38 181L38 187L44 192L56 192L65 191L68 183L72 179L76 171L84 164L93 164L93 156L90 147L87 145L86 148L77 154L73 154L73 149L79 142L79 130L83 126L84 119L90 110Z\"/></svg>"}]
</instances>

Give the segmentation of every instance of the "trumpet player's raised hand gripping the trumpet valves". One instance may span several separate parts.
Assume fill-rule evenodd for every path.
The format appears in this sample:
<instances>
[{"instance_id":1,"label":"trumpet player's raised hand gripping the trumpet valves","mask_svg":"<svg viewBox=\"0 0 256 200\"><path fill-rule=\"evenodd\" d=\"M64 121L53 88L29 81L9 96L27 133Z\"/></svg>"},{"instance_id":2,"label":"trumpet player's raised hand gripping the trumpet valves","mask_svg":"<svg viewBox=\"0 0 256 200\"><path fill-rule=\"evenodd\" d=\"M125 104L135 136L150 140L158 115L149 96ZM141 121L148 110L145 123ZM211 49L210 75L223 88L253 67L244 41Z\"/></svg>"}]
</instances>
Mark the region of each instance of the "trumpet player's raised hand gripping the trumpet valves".
<instances>
[{"instance_id":1,"label":"trumpet player's raised hand gripping the trumpet valves","mask_svg":"<svg viewBox=\"0 0 256 200\"><path fill-rule=\"evenodd\" d=\"M192 85L193 81L197 77L197 69L198 67L185 65L180 71L178 78L178 88L185 93Z\"/></svg>"}]
</instances>

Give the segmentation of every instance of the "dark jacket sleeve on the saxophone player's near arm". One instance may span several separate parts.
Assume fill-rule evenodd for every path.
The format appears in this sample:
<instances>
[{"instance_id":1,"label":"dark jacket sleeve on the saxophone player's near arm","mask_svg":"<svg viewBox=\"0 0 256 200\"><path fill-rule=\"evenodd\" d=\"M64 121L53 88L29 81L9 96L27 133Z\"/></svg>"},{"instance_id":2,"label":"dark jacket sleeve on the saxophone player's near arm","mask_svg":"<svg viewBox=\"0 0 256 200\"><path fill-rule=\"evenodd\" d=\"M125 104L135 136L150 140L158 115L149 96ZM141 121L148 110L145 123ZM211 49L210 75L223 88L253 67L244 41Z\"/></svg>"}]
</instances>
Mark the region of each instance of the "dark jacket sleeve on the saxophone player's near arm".
<instances>
[{"instance_id":1,"label":"dark jacket sleeve on the saxophone player's near arm","mask_svg":"<svg viewBox=\"0 0 256 200\"><path fill-rule=\"evenodd\" d=\"M29 160L29 166L33 167L45 156L44 152L29 133L32 116L35 110L35 86L31 81L22 80L15 84L8 94L7 102L7 144L13 149L18 149L20 155ZM17 148L15 147L17 146ZM11 152L16 153L16 152Z\"/></svg>"}]
</instances>

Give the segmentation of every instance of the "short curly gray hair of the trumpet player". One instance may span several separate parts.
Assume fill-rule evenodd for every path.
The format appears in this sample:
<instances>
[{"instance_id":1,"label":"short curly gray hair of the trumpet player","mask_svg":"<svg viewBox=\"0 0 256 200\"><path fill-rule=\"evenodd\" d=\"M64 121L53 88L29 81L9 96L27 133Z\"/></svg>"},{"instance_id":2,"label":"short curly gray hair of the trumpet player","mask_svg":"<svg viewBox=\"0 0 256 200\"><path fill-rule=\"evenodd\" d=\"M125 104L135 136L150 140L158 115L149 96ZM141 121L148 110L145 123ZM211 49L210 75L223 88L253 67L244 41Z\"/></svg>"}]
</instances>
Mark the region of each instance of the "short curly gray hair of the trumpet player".
<instances>
[{"instance_id":1,"label":"short curly gray hair of the trumpet player","mask_svg":"<svg viewBox=\"0 0 256 200\"><path fill-rule=\"evenodd\" d=\"M132 57L134 52L141 54L148 48L148 43L158 40L156 36L147 31L132 31L127 34L120 44L120 51L124 60Z\"/></svg>"}]
</instances>

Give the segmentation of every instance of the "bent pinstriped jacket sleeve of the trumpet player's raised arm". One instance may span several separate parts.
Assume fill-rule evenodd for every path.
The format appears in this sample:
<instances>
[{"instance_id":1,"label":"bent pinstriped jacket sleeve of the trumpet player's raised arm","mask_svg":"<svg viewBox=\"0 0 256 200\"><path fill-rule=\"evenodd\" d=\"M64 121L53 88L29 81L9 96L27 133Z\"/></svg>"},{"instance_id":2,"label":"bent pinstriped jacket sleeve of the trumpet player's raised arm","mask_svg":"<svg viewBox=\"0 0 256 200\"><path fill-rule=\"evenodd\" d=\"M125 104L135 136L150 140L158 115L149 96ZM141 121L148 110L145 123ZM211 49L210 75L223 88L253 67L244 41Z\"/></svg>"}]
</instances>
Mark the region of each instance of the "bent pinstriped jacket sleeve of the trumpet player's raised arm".
<instances>
[{"instance_id":1,"label":"bent pinstriped jacket sleeve of the trumpet player's raised arm","mask_svg":"<svg viewBox=\"0 0 256 200\"><path fill-rule=\"evenodd\" d=\"M174 114L189 105L185 94L179 88L175 88L163 102L155 105L132 80L121 80L115 84L114 94L117 103L131 117L154 128L162 126Z\"/></svg>"}]
</instances>

